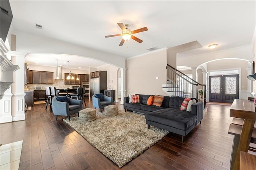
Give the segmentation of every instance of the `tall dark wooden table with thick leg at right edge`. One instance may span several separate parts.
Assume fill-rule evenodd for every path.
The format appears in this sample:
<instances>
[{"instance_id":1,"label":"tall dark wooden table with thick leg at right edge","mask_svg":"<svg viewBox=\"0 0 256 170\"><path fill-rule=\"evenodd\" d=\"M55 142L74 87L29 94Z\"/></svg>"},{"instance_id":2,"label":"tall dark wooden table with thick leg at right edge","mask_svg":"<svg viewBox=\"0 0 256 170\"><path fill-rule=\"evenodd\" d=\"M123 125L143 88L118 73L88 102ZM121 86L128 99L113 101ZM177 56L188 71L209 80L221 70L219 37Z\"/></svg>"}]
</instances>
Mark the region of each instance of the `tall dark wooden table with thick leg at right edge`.
<instances>
[{"instance_id":1,"label":"tall dark wooden table with thick leg at right edge","mask_svg":"<svg viewBox=\"0 0 256 170\"><path fill-rule=\"evenodd\" d=\"M230 117L244 119L244 124L242 126L242 132L240 135L238 145L235 144L236 141L234 138L232 158L231 158L231 164L230 164L231 170L239 170L240 152L241 151L248 152L254 123L256 121L256 112L255 112L254 102L243 100L243 99L235 99L230 107ZM236 147L237 147L237 151L234 152L234 150L236 150Z\"/></svg>"}]
</instances>

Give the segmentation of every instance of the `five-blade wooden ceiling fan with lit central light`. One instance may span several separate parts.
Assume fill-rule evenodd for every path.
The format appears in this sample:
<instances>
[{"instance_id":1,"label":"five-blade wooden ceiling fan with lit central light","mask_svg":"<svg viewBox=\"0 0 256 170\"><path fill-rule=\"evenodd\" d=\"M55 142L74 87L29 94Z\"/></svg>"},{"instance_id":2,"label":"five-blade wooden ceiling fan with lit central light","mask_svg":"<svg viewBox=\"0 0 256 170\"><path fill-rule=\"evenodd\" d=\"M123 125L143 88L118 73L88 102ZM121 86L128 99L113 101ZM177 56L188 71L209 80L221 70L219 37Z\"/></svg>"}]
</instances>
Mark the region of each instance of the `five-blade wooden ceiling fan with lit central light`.
<instances>
[{"instance_id":1,"label":"five-blade wooden ceiling fan with lit central light","mask_svg":"<svg viewBox=\"0 0 256 170\"><path fill-rule=\"evenodd\" d=\"M140 28L138 30L131 31L130 29L128 29L128 27L129 27L128 24L125 24L125 25L123 23L117 23L117 24L121 28L122 34L115 34L115 35L105 36L105 38L115 37L115 36L122 36L122 40L121 40L119 46L123 45L124 41L130 40L130 38L132 38L133 40L135 40L138 43L142 43L143 42L142 40L140 40L139 38L133 36L132 34L136 34L136 33L143 32L143 31L147 31L148 28L143 27L143 28Z\"/></svg>"}]
</instances>

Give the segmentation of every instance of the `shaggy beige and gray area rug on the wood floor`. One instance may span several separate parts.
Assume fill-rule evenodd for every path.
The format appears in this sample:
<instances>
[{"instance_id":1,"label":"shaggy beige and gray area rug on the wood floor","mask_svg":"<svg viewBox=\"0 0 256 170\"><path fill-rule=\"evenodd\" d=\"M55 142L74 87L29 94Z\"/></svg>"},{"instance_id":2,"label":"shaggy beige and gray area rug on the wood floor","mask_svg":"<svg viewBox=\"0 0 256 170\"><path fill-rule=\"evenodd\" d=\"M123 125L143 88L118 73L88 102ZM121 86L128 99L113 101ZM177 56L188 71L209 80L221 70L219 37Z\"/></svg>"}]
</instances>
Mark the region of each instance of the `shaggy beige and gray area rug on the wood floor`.
<instances>
[{"instance_id":1,"label":"shaggy beige and gray area rug on the wood floor","mask_svg":"<svg viewBox=\"0 0 256 170\"><path fill-rule=\"evenodd\" d=\"M79 117L63 121L120 168L168 134L154 127L148 130L145 116L120 110L113 117L96 113L92 122L80 122Z\"/></svg>"}]
</instances>

